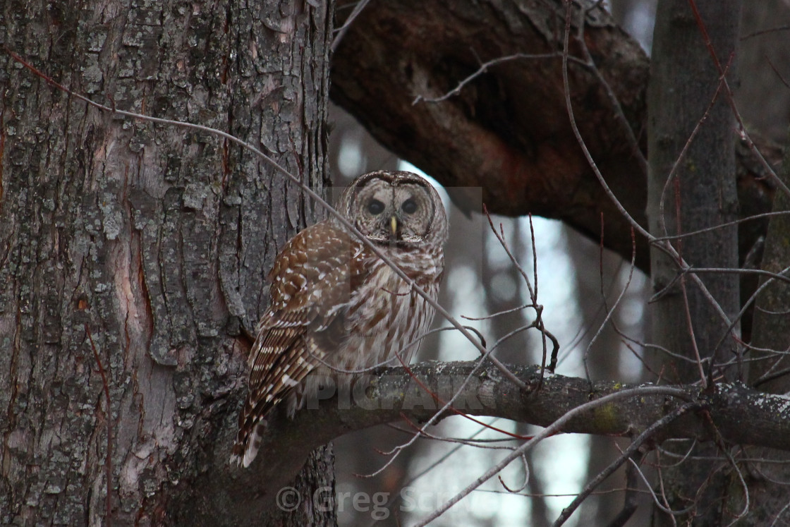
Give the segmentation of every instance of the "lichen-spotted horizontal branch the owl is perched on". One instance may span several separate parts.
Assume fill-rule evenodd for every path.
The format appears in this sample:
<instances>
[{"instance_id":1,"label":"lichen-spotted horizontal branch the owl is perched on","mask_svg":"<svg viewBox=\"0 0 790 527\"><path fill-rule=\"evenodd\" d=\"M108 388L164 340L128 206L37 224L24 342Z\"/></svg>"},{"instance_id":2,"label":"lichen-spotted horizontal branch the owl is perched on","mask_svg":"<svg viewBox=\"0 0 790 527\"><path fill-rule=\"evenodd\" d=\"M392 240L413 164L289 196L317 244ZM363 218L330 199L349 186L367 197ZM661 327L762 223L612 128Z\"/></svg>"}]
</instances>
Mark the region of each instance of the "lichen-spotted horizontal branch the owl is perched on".
<instances>
[{"instance_id":1,"label":"lichen-spotted horizontal branch the owl is perched on","mask_svg":"<svg viewBox=\"0 0 790 527\"><path fill-rule=\"evenodd\" d=\"M653 442L708 441L715 436L710 426L713 423L729 442L790 450L790 398L751 390L743 384L719 384L701 393L698 386L590 383L583 378L546 375L538 389L538 367L511 366L513 374L528 386L528 390L520 390L496 367L480 367L475 372L476 367L474 362L425 362L412 367L413 376L402 367L360 375L350 389L336 390L333 382L327 382L318 400L307 401L307 407L297 412L293 421L279 414L272 416L258 459L250 469L222 469L227 471L224 476L229 476L235 500L250 499L258 506L269 506L276 492L302 468L310 451L340 435L404 419L412 423L431 419L442 402L423 386L442 401L458 392L453 407L459 412L544 427L589 401L635 390L635 397L616 399L575 416L562 431L634 437L679 406L694 402L701 408L698 412L688 412L662 427ZM456 414L445 412L441 418L450 415Z\"/></svg>"}]
</instances>

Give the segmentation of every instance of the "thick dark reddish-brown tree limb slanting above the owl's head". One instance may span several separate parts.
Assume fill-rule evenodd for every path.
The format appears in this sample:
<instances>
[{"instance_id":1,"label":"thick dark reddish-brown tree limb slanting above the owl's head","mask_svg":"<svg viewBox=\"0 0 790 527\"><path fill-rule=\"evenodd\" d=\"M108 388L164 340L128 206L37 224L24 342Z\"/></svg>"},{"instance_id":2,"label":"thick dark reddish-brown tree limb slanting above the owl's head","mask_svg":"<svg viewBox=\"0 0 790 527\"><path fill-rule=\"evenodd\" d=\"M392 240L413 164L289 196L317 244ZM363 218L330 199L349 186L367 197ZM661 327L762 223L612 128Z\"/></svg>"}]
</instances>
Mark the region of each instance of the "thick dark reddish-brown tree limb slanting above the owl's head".
<instances>
[{"instance_id":1,"label":"thick dark reddish-brown tree limb slanting above the owl's head","mask_svg":"<svg viewBox=\"0 0 790 527\"><path fill-rule=\"evenodd\" d=\"M340 22L352 3L338 2ZM564 9L559 0L370 2L333 56L331 96L383 145L443 185L482 187L491 212L558 218L596 240L603 216L604 244L630 258L630 226L570 129L559 55ZM581 136L615 195L646 226L640 157L649 59L598 9L586 17L584 38L596 67L581 64L584 48L573 38L571 53L581 61L569 64ZM453 92L481 63L519 54L487 66L445 100L427 101ZM766 146L765 153L777 160L778 149ZM738 158L742 217L769 211L773 188L765 169L743 145ZM741 262L766 224L741 229ZM647 270L647 244L637 243L637 265Z\"/></svg>"}]
</instances>

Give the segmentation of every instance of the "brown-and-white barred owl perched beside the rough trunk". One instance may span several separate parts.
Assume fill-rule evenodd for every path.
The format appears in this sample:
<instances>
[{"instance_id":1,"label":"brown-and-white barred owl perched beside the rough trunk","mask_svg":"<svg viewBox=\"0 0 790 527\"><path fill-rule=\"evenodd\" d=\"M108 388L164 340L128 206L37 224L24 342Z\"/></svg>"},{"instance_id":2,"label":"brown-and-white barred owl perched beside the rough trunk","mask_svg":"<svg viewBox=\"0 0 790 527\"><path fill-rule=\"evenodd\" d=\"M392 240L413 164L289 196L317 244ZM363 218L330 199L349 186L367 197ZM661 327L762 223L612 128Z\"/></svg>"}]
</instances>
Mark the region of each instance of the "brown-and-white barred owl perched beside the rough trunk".
<instances>
[{"instance_id":1,"label":"brown-and-white barred owl perched beside the rough trunk","mask_svg":"<svg viewBox=\"0 0 790 527\"><path fill-rule=\"evenodd\" d=\"M448 224L430 183L411 172L371 172L344 190L337 210L436 298ZM293 417L327 375L373 367L396 353L407 363L434 315L335 218L295 235L269 280L270 306L250 351L249 393L231 455L245 467L276 405L284 401Z\"/></svg>"}]
</instances>

